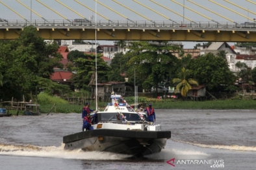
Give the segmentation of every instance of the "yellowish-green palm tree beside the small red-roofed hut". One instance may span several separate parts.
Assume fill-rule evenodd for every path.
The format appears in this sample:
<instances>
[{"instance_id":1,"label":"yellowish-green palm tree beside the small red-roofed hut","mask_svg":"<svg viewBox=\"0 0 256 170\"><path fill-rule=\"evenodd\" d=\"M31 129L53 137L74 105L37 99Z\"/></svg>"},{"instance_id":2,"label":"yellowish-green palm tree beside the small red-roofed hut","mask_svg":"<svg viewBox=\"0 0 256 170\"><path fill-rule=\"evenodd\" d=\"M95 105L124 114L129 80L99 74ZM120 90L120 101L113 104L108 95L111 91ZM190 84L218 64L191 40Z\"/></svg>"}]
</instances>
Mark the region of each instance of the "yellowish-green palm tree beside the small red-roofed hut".
<instances>
[{"instance_id":1,"label":"yellowish-green palm tree beside the small red-roofed hut","mask_svg":"<svg viewBox=\"0 0 256 170\"><path fill-rule=\"evenodd\" d=\"M180 78L174 78L172 80L173 84L178 83L175 89L175 93L178 91L181 92L181 96L186 97L188 90L192 89L191 85L198 85L198 81L190 78L186 80L186 77L189 75L189 70L186 70L184 67L181 69Z\"/></svg>"}]
</instances>

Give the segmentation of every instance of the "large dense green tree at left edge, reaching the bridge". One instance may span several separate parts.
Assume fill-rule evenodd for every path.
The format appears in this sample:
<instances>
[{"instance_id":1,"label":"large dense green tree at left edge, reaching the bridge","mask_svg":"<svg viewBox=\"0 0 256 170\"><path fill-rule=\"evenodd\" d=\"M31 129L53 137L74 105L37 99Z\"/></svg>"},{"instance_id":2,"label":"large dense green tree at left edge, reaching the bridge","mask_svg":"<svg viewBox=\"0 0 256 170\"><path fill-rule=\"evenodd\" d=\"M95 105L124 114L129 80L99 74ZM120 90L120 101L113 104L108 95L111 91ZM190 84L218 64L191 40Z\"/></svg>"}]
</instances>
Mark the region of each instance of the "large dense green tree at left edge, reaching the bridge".
<instances>
[{"instance_id":1,"label":"large dense green tree at left edge, reaching the bridge","mask_svg":"<svg viewBox=\"0 0 256 170\"><path fill-rule=\"evenodd\" d=\"M0 98L29 98L38 78L49 79L54 67L63 67L61 58L57 43L45 43L35 27L25 27L18 39L0 41Z\"/></svg>"}]
</instances>

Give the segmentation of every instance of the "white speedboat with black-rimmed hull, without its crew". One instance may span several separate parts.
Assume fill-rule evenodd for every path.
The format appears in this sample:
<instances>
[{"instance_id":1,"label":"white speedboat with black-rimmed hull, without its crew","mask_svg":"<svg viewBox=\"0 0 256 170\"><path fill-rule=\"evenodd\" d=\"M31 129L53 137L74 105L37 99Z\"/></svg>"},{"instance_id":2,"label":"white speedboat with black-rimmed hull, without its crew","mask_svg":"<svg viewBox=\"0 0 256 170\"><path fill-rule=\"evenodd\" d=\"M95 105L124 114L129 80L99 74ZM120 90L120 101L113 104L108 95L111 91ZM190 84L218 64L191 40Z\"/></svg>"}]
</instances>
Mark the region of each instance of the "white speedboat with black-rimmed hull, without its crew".
<instances>
[{"instance_id":1,"label":"white speedboat with black-rimmed hull, without its crew","mask_svg":"<svg viewBox=\"0 0 256 170\"><path fill-rule=\"evenodd\" d=\"M147 114L134 111L121 95L113 94L110 98L112 103L107 103L104 111L97 112L97 120L92 121L94 130L64 136L64 149L136 157L159 153L171 138L171 131L162 131L161 125L147 122Z\"/></svg>"}]
</instances>

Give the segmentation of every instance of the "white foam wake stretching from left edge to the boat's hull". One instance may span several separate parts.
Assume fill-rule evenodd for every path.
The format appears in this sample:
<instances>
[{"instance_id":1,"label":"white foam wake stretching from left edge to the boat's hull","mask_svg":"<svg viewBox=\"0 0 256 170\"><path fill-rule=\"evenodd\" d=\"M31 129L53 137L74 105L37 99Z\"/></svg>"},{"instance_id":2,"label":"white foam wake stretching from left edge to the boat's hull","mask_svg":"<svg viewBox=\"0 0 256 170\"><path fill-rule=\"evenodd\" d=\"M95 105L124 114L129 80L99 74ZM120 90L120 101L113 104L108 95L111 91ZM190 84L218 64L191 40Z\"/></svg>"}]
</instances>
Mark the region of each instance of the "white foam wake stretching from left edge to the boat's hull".
<instances>
[{"instance_id":1,"label":"white foam wake stretching from left edge to the boat's hull","mask_svg":"<svg viewBox=\"0 0 256 170\"><path fill-rule=\"evenodd\" d=\"M64 144L60 147L38 147L34 145L1 145L0 154L14 156L36 156L49 158L65 158L79 160L122 160L129 156L105 152L85 152L81 149L64 150Z\"/></svg>"}]
</instances>

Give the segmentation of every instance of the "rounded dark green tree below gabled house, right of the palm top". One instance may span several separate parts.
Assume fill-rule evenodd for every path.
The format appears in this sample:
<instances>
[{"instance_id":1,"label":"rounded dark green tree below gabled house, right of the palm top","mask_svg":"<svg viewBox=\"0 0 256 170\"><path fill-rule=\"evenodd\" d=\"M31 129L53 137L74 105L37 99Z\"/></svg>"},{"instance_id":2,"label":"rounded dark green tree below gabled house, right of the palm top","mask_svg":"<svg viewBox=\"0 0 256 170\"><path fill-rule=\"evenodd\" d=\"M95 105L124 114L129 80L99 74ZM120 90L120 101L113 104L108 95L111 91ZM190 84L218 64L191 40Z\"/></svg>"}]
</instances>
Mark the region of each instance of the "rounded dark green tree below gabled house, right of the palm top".
<instances>
[{"instance_id":1,"label":"rounded dark green tree below gabled house, right of the palm top","mask_svg":"<svg viewBox=\"0 0 256 170\"><path fill-rule=\"evenodd\" d=\"M235 75L229 70L227 61L212 53L191 59L187 69L191 71L192 78L205 85L208 90L219 91L233 85L235 81Z\"/></svg>"}]
</instances>

